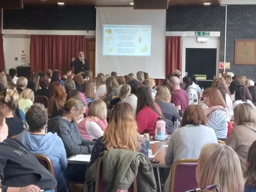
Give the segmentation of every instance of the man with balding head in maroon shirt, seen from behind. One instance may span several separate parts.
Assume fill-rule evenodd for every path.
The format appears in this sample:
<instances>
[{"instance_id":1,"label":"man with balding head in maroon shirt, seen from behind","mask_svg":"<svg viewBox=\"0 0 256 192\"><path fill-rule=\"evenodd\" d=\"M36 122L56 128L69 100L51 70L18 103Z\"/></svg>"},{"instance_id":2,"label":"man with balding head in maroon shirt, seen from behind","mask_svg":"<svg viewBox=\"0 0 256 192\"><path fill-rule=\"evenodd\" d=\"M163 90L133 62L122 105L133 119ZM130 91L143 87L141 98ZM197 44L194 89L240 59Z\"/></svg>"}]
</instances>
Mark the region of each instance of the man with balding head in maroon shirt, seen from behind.
<instances>
[{"instance_id":1,"label":"man with balding head in maroon shirt, seen from behind","mask_svg":"<svg viewBox=\"0 0 256 192\"><path fill-rule=\"evenodd\" d=\"M188 94L186 91L180 88L180 80L176 76L172 76L170 79L170 86L173 90L171 95L171 103L173 103L177 110L185 110L188 107Z\"/></svg>"}]
</instances>

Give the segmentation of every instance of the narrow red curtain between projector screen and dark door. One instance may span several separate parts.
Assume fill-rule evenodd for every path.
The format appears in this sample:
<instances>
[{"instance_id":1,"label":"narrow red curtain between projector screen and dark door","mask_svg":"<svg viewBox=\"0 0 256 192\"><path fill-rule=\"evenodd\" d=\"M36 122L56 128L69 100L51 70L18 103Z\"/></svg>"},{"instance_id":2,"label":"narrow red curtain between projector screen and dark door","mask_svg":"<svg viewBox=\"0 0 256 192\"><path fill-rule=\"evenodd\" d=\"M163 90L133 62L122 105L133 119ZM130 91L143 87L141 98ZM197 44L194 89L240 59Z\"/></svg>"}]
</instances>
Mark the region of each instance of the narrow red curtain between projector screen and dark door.
<instances>
[{"instance_id":1,"label":"narrow red curtain between projector screen and dark door","mask_svg":"<svg viewBox=\"0 0 256 192\"><path fill-rule=\"evenodd\" d=\"M165 38L165 77L175 69L181 71L181 37L166 36ZM155 79L156 84L161 84L162 79Z\"/></svg>"}]
</instances>

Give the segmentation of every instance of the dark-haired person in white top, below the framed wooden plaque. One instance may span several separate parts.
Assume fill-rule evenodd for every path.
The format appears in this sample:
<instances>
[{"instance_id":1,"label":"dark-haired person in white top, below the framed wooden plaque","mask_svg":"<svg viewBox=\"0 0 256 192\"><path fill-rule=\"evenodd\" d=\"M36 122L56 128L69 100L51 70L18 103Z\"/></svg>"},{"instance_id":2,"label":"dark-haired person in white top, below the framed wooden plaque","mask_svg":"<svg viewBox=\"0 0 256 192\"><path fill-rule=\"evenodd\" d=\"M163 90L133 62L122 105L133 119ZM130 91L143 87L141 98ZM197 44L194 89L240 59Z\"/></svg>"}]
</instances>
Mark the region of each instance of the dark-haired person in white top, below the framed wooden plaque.
<instances>
[{"instance_id":1,"label":"dark-haired person in white top, below the framed wooden plaque","mask_svg":"<svg viewBox=\"0 0 256 192\"><path fill-rule=\"evenodd\" d=\"M251 99L251 94L248 88L242 84L236 88L235 102L233 102L233 107L235 108L236 105L243 104L245 102L250 105L253 105Z\"/></svg>"}]
</instances>

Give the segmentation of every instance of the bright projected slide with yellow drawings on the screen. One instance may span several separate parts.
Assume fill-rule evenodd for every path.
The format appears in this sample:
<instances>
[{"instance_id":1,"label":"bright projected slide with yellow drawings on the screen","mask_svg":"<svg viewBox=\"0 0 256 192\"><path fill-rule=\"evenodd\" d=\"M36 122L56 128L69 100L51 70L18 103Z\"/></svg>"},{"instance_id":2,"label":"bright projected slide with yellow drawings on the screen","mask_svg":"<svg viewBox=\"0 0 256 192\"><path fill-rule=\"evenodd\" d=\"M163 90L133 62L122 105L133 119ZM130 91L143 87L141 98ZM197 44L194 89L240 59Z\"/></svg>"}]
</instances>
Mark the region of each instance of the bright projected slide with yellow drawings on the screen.
<instances>
[{"instance_id":1,"label":"bright projected slide with yellow drawings on the screen","mask_svg":"<svg viewBox=\"0 0 256 192\"><path fill-rule=\"evenodd\" d=\"M103 25L104 56L151 56L151 25Z\"/></svg>"}]
</instances>

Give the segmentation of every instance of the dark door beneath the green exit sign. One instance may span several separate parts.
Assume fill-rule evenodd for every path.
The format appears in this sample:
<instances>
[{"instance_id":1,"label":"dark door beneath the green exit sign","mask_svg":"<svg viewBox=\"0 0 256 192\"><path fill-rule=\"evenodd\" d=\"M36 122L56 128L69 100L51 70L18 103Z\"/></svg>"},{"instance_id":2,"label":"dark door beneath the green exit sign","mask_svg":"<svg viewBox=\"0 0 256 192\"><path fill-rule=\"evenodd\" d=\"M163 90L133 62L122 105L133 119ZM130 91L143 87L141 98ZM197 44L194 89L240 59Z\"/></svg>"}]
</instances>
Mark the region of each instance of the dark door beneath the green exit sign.
<instances>
[{"instance_id":1,"label":"dark door beneath the green exit sign","mask_svg":"<svg viewBox=\"0 0 256 192\"><path fill-rule=\"evenodd\" d=\"M200 87L210 87L216 74L217 49L186 48L186 68L188 76L206 75L207 80L199 80Z\"/></svg>"}]
</instances>

